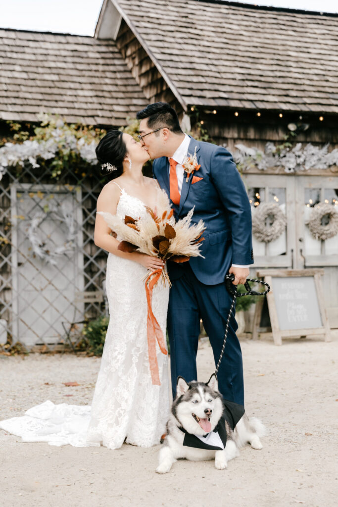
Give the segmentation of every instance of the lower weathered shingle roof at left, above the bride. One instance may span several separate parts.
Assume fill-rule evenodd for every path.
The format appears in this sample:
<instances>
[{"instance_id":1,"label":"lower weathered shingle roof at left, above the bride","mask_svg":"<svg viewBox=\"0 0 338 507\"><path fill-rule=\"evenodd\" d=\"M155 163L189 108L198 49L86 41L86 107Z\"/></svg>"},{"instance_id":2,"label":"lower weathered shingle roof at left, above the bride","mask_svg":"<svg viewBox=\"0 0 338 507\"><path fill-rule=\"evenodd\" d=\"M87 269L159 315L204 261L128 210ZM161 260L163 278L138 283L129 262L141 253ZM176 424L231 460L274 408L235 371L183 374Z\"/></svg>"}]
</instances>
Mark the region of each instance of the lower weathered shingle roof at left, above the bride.
<instances>
[{"instance_id":1,"label":"lower weathered shingle roof at left, above the bride","mask_svg":"<svg viewBox=\"0 0 338 507\"><path fill-rule=\"evenodd\" d=\"M147 104L111 40L0 29L0 118L122 125Z\"/></svg>"}]
</instances>

